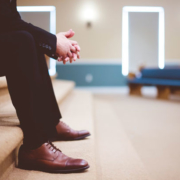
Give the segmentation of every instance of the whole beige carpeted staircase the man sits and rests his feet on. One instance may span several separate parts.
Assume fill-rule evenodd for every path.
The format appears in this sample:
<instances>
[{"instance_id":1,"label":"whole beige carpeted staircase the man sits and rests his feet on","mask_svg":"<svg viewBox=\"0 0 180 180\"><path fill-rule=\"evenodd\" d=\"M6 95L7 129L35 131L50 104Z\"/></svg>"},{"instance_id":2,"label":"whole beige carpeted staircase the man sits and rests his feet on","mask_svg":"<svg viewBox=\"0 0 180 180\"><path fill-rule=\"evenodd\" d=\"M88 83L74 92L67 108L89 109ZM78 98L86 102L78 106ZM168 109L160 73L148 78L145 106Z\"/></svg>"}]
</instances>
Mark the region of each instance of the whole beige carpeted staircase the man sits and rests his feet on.
<instances>
[{"instance_id":1,"label":"whole beige carpeted staircase the man sits and rests his feet on","mask_svg":"<svg viewBox=\"0 0 180 180\"><path fill-rule=\"evenodd\" d=\"M148 180L149 176L112 107L74 82L53 80L62 121L74 129L87 129L86 140L55 142L68 156L83 158L90 168L82 173L50 174L16 167L23 134L7 89L0 90L0 179L1 180ZM109 145L111 144L111 146ZM120 146L117 146L120 144Z\"/></svg>"}]
</instances>

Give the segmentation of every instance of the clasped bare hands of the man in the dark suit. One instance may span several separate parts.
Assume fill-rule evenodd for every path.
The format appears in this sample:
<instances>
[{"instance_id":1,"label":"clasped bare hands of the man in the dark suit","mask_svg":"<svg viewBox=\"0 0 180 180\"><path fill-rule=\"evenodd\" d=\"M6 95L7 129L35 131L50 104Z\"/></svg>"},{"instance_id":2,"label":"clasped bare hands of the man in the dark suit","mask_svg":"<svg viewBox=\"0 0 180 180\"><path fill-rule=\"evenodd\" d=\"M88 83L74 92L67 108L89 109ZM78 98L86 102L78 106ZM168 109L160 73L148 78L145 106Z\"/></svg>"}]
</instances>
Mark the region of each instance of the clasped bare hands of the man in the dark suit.
<instances>
[{"instance_id":1,"label":"clasped bare hands of the man in the dark suit","mask_svg":"<svg viewBox=\"0 0 180 180\"><path fill-rule=\"evenodd\" d=\"M66 64L68 61L72 63L73 61L80 59L80 47L78 43L69 39L73 37L74 34L75 32L70 29L67 32L60 32L56 35L56 55L58 56L58 61L63 61L63 64Z\"/></svg>"}]
</instances>

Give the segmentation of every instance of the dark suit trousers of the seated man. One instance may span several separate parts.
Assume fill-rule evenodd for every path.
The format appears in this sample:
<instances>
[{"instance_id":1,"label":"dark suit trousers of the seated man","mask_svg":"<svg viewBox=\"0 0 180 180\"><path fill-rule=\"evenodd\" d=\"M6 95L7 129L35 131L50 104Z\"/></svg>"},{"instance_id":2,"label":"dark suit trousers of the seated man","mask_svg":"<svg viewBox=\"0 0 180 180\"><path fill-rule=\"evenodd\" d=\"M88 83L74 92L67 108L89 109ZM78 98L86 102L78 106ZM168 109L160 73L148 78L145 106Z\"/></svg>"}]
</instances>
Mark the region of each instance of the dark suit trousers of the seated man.
<instances>
[{"instance_id":1,"label":"dark suit trousers of the seated man","mask_svg":"<svg viewBox=\"0 0 180 180\"><path fill-rule=\"evenodd\" d=\"M43 52L26 31L0 33L0 75L5 75L24 133L24 145L36 148L56 135L61 113Z\"/></svg>"}]
</instances>

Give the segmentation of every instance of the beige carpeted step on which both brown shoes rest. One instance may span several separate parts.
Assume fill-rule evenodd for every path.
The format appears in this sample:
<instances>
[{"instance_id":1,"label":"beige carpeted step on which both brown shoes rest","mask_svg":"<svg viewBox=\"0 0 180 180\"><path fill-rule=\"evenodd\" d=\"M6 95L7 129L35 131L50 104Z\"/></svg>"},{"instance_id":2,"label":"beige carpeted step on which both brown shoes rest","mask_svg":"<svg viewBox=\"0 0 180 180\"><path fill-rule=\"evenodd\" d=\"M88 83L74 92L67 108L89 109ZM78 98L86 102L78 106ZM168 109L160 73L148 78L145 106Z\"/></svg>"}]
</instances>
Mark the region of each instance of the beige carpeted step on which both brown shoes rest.
<instances>
[{"instance_id":1,"label":"beige carpeted step on which both brown shoes rest","mask_svg":"<svg viewBox=\"0 0 180 180\"><path fill-rule=\"evenodd\" d=\"M93 99L88 92L74 90L60 106L63 119L74 129L88 129L91 136L85 140L56 142L63 153L74 157L83 158L90 164L90 169L83 173L50 174L38 171L26 171L15 168L8 180L95 180L95 139L93 125Z\"/></svg>"}]
</instances>

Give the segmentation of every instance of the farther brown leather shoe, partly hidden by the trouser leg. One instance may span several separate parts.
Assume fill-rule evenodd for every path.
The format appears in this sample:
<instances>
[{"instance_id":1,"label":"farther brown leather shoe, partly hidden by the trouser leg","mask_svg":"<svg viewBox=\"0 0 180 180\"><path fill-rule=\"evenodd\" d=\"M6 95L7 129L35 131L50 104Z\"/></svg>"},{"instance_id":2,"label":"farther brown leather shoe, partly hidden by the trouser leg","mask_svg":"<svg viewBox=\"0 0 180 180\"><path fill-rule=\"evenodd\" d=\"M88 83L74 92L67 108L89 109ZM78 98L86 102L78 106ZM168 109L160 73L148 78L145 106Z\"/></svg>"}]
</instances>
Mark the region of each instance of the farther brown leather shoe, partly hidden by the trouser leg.
<instances>
[{"instance_id":1,"label":"farther brown leather shoe, partly hidden by the trouser leg","mask_svg":"<svg viewBox=\"0 0 180 180\"><path fill-rule=\"evenodd\" d=\"M68 140L80 140L84 139L91 134L86 130L73 130L71 129L67 124L65 124L63 121L60 121L57 126L57 137L50 138L51 141L68 141Z\"/></svg>"}]
</instances>

